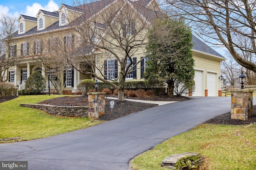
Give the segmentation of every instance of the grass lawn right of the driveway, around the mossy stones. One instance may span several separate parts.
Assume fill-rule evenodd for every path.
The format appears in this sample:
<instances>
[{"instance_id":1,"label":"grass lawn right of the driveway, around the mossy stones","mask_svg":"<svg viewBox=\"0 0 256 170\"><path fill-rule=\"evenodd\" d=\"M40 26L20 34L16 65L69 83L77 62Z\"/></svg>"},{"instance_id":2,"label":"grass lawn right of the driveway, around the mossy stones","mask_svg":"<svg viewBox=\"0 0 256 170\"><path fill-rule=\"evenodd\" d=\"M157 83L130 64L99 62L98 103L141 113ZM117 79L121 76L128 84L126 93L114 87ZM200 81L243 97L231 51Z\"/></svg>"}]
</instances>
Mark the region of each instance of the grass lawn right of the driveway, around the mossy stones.
<instances>
[{"instance_id":1,"label":"grass lawn right of the driveway, around the mossy stones","mask_svg":"<svg viewBox=\"0 0 256 170\"><path fill-rule=\"evenodd\" d=\"M160 165L166 156L198 152L204 159L202 170L255 170L256 125L201 124L172 137L130 161L135 170L165 170Z\"/></svg>"}]
</instances>

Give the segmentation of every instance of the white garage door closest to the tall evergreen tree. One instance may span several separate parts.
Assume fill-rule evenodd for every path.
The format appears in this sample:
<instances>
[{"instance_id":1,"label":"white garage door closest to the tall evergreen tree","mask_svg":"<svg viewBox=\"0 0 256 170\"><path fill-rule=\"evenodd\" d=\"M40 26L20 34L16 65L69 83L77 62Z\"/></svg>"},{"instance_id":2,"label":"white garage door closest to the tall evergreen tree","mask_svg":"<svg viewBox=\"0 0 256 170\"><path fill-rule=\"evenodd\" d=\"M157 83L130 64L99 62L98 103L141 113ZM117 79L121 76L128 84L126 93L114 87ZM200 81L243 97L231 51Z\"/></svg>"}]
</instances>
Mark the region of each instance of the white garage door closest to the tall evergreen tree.
<instances>
[{"instance_id":1,"label":"white garage door closest to the tall evergreen tree","mask_svg":"<svg viewBox=\"0 0 256 170\"><path fill-rule=\"evenodd\" d=\"M195 92L192 94L192 96L204 96L203 72L199 71L199 70L195 70L194 80L195 80L196 88L195 88Z\"/></svg>"}]
</instances>

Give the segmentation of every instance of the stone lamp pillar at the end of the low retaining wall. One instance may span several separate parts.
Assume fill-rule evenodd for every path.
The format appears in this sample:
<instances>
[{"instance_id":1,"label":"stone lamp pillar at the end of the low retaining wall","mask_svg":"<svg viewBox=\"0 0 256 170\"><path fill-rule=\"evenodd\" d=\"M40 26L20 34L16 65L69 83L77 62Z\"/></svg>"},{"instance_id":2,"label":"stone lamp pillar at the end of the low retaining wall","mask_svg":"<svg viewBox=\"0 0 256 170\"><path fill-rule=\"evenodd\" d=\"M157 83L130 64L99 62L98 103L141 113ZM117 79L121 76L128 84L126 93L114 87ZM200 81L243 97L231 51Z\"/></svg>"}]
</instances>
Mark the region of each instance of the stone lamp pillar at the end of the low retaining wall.
<instances>
[{"instance_id":1,"label":"stone lamp pillar at the end of the low retaining wall","mask_svg":"<svg viewBox=\"0 0 256 170\"><path fill-rule=\"evenodd\" d=\"M98 119L105 114L105 95L106 92L90 92L88 95L88 117Z\"/></svg>"}]
</instances>

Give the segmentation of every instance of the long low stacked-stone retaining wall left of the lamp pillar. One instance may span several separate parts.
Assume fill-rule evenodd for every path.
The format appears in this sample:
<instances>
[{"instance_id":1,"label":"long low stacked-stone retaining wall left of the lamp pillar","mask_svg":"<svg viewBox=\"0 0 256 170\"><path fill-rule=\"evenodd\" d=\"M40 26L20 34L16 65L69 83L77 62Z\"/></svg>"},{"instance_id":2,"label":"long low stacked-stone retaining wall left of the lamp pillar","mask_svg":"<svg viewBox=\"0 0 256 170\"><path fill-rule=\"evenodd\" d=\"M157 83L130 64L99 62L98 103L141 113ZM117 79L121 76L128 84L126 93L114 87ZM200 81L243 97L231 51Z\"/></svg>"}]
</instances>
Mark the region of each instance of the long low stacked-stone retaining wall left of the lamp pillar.
<instances>
[{"instance_id":1,"label":"long low stacked-stone retaining wall left of the lamp pillar","mask_svg":"<svg viewBox=\"0 0 256 170\"><path fill-rule=\"evenodd\" d=\"M39 109L54 116L88 117L87 106L52 106L48 104L20 104L20 106Z\"/></svg>"}]
</instances>

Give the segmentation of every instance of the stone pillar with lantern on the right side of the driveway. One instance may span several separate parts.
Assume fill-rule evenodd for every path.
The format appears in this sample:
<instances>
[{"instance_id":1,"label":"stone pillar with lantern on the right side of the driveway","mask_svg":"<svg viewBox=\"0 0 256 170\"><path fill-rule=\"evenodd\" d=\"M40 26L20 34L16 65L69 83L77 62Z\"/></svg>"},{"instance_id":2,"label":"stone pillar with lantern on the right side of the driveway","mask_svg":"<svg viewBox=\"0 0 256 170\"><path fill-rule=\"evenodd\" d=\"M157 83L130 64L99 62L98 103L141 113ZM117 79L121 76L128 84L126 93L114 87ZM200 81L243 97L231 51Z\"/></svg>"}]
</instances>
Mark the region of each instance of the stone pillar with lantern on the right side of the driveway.
<instances>
[{"instance_id":1,"label":"stone pillar with lantern on the right side of the driveway","mask_svg":"<svg viewBox=\"0 0 256 170\"><path fill-rule=\"evenodd\" d=\"M252 93L254 89L230 89L231 119L247 120L252 116Z\"/></svg>"}]
</instances>

